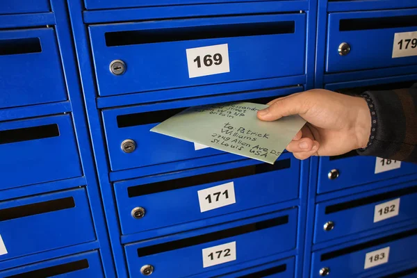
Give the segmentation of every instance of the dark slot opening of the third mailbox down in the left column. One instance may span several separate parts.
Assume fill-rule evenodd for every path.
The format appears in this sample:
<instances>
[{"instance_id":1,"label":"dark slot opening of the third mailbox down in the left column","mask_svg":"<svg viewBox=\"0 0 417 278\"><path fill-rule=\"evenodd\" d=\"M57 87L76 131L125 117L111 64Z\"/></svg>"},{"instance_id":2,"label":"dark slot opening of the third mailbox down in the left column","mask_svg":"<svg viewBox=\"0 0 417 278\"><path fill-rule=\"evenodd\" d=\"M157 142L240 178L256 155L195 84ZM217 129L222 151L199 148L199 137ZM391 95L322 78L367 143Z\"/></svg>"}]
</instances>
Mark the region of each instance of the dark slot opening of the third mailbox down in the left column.
<instances>
[{"instance_id":1,"label":"dark slot opening of the third mailbox down in the left column","mask_svg":"<svg viewBox=\"0 0 417 278\"><path fill-rule=\"evenodd\" d=\"M74 197L65 197L46 202L25 204L23 206L15 206L12 208L3 208L0 210L0 222L74 207Z\"/></svg>"}]
</instances>

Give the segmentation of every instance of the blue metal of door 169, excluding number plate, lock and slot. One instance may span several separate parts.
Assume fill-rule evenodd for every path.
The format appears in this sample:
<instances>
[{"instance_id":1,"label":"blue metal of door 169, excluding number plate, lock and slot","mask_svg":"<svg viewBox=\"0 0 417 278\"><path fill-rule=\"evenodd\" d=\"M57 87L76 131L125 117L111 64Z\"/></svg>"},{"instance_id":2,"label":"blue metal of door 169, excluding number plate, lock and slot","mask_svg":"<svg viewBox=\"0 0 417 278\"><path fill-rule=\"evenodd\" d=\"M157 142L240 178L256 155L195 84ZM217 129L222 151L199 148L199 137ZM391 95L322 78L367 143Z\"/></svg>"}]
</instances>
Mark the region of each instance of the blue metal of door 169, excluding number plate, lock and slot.
<instances>
[{"instance_id":1,"label":"blue metal of door 169, excluding number plate, lock and slot","mask_svg":"<svg viewBox=\"0 0 417 278\"><path fill-rule=\"evenodd\" d=\"M198 26L231 28L235 24L268 24L294 22L293 33L280 33L279 26L275 34L252 35L231 38L208 38L196 40L154 42L108 47L105 34L119 32L123 38L158 37L158 33L172 32L174 28L192 30ZM98 80L99 95L121 95L147 90L161 90L193 85L224 83L252 79L265 79L279 76L304 74L306 15L304 13L286 15L254 15L244 17L213 17L206 19L179 19L159 22L140 22L129 24L109 24L90 26L90 38L95 60L95 72ZM244 28L243 26L240 28ZM258 27L260 28L260 27ZM133 31L124 34L120 32ZM184 31L185 32L185 31ZM163 35L159 35L163 36ZM110 38L108 38L110 40ZM155 38L153 39L155 40ZM164 40L163 37L157 40ZM285 44L281 43L286 41ZM120 42L124 43L124 42ZM129 42L131 43L131 42ZM186 49L208 47L217 44L228 44L230 72L189 78ZM112 45L112 44L111 44ZM138 56L146 53L146 56ZM297 55L290 56L288 53ZM256 58L254 58L256 57ZM126 72L122 75L112 74L109 70L111 60L122 60L126 63ZM256 70L253 70L256 68Z\"/></svg>"}]
</instances>

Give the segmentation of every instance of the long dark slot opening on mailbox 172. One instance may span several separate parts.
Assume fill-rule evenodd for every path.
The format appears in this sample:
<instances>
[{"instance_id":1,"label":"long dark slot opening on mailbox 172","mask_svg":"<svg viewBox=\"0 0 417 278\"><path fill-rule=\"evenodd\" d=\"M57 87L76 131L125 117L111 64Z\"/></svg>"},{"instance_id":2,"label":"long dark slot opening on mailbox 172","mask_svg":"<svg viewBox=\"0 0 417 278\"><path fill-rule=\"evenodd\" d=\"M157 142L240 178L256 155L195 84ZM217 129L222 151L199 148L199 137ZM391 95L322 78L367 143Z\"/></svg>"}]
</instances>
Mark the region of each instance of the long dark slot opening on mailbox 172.
<instances>
[{"instance_id":1,"label":"long dark slot opening on mailbox 172","mask_svg":"<svg viewBox=\"0 0 417 278\"><path fill-rule=\"evenodd\" d=\"M270 227L287 224L288 221L289 221L289 216L284 215L278 218L272 218L270 220L264 220L261 222L245 224L243 226L234 227L231 229L225 229L222 231L215 231L209 234L203 234L201 236L193 236L191 238L183 238L180 240L174 240L174 241L167 242L167 243L160 243L157 245L142 247L142 248L138 248L138 256L139 257L149 256L149 255L158 254L162 252L177 250L180 248L199 245L202 243L208 243L208 242L215 241L215 240L230 238L232 236L239 236L241 234L247 234L252 231L260 231L262 229L268 229Z\"/></svg>"}]
</instances>

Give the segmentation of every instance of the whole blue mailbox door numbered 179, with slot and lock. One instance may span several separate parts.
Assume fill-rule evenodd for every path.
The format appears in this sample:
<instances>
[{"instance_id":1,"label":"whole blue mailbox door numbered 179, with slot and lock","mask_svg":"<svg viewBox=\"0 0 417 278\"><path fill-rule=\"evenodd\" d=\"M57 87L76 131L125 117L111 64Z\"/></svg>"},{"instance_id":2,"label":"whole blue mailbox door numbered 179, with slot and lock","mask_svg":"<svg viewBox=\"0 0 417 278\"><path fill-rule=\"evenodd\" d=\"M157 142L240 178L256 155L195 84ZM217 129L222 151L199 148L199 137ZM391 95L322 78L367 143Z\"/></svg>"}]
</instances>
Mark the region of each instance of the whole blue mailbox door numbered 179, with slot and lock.
<instances>
[{"instance_id":1,"label":"whole blue mailbox door numbered 179, with slot and lock","mask_svg":"<svg viewBox=\"0 0 417 278\"><path fill-rule=\"evenodd\" d=\"M326 72L417 63L417 9L330 13Z\"/></svg>"}]
</instances>

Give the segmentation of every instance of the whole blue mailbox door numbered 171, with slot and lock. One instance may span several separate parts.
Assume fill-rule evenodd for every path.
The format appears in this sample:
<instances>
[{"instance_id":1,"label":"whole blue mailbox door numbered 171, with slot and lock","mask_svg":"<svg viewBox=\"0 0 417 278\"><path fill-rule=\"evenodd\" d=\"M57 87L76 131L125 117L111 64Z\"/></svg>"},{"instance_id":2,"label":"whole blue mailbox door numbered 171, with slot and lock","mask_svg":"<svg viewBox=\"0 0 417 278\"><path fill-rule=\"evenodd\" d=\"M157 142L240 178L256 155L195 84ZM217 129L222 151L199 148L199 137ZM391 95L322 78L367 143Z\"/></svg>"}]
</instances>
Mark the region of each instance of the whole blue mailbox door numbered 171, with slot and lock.
<instances>
[{"instance_id":1,"label":"whole blue mailbox door numbered 171, with slot and lock","mask_svg":"<svg viewBox=\"0 0 417 278\"><path fill-rule=\"evenodd\" d=\"M283 154L275 165L245 160L211 166L204 171L188 170L117 182L115 195L122 233L204 220L296 199L299 175L300 161L291 154Z\"/></svg>"}]
</instances>

